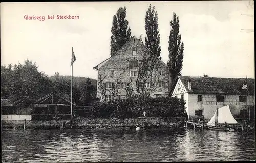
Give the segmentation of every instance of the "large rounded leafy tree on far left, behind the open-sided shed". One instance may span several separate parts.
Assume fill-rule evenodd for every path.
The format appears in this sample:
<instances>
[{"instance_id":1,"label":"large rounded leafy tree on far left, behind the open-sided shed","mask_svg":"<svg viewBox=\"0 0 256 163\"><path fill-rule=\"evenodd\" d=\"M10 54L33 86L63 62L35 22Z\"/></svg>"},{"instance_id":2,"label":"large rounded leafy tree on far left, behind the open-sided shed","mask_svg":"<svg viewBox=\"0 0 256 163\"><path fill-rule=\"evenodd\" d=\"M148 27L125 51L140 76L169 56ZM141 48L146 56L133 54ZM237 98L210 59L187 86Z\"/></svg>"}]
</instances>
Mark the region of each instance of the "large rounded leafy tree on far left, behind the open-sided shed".
<instances>
[{"instance_id":1,"label":"large rounded leafy tree on far left, behind the open-sided shed","mask_svg":"<svg viewBox=\"0 0 256 163\"><path fill-rule=\"evenodd\" d=\"M14 105L28 106L38 98L49 93L51 81L32 61L14 65L11 75L9 99Z\"/></svg>"}]
</instances>

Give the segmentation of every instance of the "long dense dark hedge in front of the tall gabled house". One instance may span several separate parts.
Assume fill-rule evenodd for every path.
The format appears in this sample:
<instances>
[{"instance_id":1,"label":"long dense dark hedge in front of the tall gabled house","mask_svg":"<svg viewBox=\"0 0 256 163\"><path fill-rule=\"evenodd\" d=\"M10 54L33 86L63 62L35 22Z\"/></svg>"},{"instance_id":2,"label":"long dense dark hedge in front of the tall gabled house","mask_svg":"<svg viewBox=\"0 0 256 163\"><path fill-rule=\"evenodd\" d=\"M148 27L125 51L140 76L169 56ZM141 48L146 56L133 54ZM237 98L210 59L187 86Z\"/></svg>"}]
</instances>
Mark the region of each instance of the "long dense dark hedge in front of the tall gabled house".
<instances>
[{"instance_id":1,"label":"long dense dark hedge in front of the tall gabled house","mask_svg":"<svg viewBox=\"0 0 256 163\"><path fill-rule=\"evenodd\" d=\"M151 98L132 95L126 100L97 102L93 105L93 116L106 118L141 117L146 111L147 117L187 117L184 109L185 101L173 97Z\"/></svg>"}]
</instances>

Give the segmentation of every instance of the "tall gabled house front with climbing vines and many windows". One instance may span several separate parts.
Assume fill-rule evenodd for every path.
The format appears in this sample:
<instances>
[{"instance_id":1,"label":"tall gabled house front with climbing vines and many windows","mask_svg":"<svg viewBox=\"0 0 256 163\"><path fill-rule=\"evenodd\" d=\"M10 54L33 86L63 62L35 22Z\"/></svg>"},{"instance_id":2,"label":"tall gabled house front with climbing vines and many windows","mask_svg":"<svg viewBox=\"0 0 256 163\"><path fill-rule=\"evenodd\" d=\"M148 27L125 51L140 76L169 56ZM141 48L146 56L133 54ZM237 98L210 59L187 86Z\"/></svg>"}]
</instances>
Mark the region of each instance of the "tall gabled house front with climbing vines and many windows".
<instances>
[{"instance_id":1,"label":"tall gabled house front with climbing vines and many windows","mask_svg":"<svg viewBox=\"0 0 256 163\"><path fill-rule=\"evenodd\" d=\"M97 98L102 101L131 94L160 97L169 92L167 64L135 36L94 70L98 71Z\"/></svg>"}]
</instances>

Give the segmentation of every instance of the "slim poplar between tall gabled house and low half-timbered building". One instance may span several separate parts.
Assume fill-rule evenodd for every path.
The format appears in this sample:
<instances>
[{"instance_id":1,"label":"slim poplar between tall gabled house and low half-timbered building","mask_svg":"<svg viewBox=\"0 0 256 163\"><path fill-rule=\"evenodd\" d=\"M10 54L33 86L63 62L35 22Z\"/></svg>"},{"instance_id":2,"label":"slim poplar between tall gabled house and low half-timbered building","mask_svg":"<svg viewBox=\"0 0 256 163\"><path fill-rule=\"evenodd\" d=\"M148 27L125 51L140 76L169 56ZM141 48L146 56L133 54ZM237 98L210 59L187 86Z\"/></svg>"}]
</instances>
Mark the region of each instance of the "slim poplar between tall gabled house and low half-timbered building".
<instances>
[{"instance_id":1,"label":"slim poplar between tall gabled house and low half-timbered building","mask_svg":"<svg viewBox=\"0 0 256 163\"><path fill-rule=\"evenodd\" d=\"M170 87L174 84L174 80L178 75L181 75L183 66L183 52L184 44L181 42L181 35L179 34L179 17L173 13L173 20L170 21L170 35L169 35L169 61L167 65L170 73Z\"/></svg>"}]
</instances>

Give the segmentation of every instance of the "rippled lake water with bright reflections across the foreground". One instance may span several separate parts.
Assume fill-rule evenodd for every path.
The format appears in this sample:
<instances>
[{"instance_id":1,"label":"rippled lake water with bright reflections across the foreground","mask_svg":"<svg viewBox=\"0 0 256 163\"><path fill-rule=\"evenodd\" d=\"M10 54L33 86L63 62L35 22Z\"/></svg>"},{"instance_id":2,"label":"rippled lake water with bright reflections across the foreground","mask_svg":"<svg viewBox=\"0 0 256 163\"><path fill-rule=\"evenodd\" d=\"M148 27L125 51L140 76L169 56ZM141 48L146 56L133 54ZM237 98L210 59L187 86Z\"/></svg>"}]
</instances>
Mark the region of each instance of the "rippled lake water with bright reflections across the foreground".
<instances>
[{"instance_id":1,"label":"rippled lake water with bright reflections across the foreground","mask_svg":"<svg viewBox=\"0 0 256 163\"><path fill-rule=\"evenodd\" d=\"M2 162L255 160L253 133L169 129L2 131Z\"/></svg>"}]
</instances>

